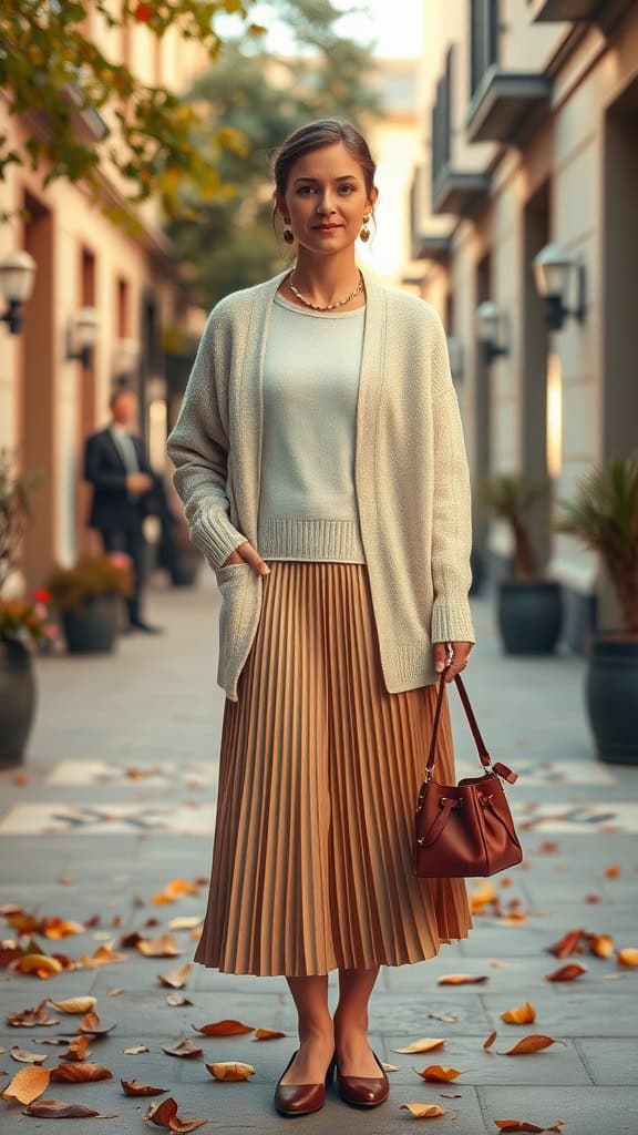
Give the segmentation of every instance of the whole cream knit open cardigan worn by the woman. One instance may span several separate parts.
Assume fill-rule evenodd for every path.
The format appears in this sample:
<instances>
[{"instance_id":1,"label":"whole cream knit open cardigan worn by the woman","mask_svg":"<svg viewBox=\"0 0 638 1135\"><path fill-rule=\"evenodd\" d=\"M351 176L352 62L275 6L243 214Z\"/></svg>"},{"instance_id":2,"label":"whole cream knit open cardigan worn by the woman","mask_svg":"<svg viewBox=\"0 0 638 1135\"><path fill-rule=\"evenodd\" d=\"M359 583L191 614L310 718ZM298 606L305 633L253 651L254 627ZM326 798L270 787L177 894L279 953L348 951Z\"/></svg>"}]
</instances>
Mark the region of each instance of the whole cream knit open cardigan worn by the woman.
<instances>
[{"instance_id":1,"label":"whole cream knit open cardigan worn by the woman","mask_svg":"<svg viewBox=\"0 0 638 1135\"><path fill-rule=\"evenodd\" d=\"M361 538L388 692L436 681L433 642L476 641L468 462L436 310L361 267L367 312L355 428ZM257 545L262 372L272 299L286 271L211 311L168 442L193 543L221 591L217 681L237 679L261 611L262 579L221 566Z\"/></svg>"}]
</instances>

